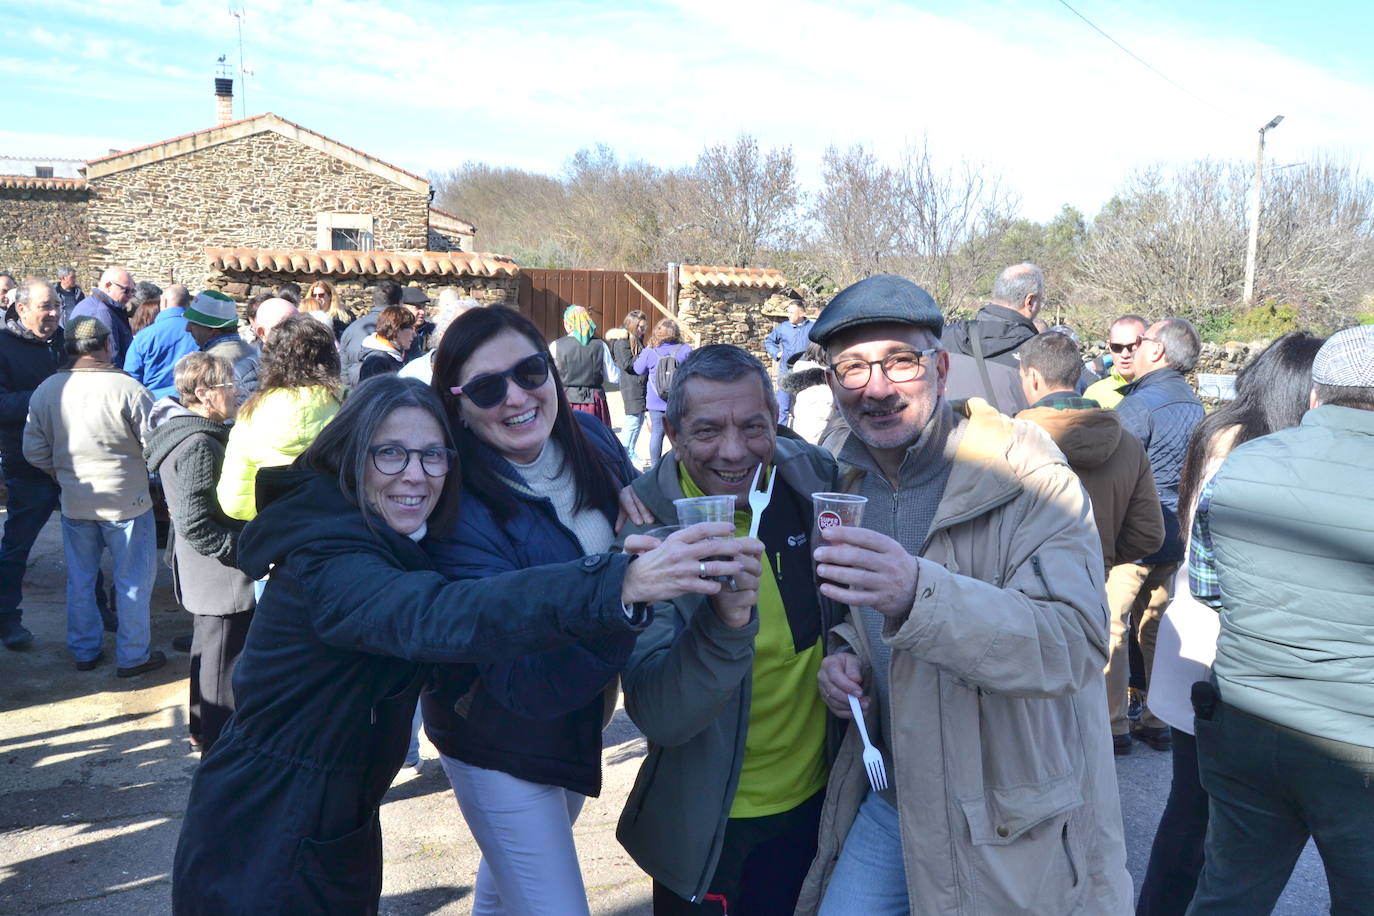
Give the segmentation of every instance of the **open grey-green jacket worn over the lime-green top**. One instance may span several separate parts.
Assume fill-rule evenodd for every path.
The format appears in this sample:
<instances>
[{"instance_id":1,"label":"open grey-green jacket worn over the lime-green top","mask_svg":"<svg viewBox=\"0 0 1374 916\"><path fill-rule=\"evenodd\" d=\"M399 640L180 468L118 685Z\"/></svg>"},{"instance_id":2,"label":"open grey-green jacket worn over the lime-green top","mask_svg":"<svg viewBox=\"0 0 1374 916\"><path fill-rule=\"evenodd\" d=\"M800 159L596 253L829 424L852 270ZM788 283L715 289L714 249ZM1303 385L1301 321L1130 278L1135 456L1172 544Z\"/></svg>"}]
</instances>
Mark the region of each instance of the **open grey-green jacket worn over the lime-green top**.
<instances>
[{"instance_id":1,"label":"open grey-green jacket worn over the lime-green top","mask_svg":"<svg viewBox=\"0 0 1374 916\"><path fill-rule=\"evenodd\" d=\"M798 614L805 602L789 602L787 591L815 592L805 530L809 494L834 489L835 464L818 448L779 438L774 466L780 482L764 511L760 537L767 547L765 562L775 564L793 637L813 645L834 622L830 614L835 608L822 599L819 619ZM683 492L675 453L633 486L654 518L676 518L672 501ZM793 507L802 507L798 515L787 512L786 496ZM790 518L805 518L802 530L790 529ZM621 540L654 525L627 526ZM757 608L749 623L734 629L720 622L703 596L683 596L660 606L622 674L625 711L649 739L649 755L635 777L616 836L640 868L683 900L701 900L720 861L745 762L757 634ZM833 737L838 740L838 733Z\"/></svg>"}]
</instances>

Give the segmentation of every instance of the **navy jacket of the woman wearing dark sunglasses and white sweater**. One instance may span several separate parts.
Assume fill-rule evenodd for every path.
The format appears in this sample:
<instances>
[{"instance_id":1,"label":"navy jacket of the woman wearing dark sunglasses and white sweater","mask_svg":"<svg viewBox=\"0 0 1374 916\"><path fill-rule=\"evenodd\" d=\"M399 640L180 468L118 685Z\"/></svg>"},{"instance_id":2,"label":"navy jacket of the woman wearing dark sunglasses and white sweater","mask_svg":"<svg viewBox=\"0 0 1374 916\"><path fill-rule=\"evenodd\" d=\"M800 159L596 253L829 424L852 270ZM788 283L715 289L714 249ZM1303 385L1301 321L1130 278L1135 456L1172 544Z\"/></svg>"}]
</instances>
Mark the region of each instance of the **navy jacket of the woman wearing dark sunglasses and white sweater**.
<instances>
[{"instance_id":1,"label":"navy jacket of the woman wearing dark sunglasses and white sweater","mask_svg":"<svg viewBox=\"0 0 1374 916\"><path fill-rule=\"evenodd\" d=\"M614 434L591 415L573 416L606 456L616 479L621 485L632 481L636 472ZM519 479L496 452L482 449L481 459L503 477ZM499 522L486 499L514 503L515 514ZM598 508L614 523L616 501ZM583 556L577 537L558 520L552 503L518 490L477 494L464 489L458 523L444 536L426 538L425 548L436 569L460 580ZM528 588L548 588L548 582L529 580ZM438 669L422 698L425 733L441 753L464 764L599 795L603 691L633 647L633 633L611 633L514 662L484 665L475 687L471 678L455 681L449 669ZM463 714L453 709L460 699Z\"/></svg>"}]
</instances>

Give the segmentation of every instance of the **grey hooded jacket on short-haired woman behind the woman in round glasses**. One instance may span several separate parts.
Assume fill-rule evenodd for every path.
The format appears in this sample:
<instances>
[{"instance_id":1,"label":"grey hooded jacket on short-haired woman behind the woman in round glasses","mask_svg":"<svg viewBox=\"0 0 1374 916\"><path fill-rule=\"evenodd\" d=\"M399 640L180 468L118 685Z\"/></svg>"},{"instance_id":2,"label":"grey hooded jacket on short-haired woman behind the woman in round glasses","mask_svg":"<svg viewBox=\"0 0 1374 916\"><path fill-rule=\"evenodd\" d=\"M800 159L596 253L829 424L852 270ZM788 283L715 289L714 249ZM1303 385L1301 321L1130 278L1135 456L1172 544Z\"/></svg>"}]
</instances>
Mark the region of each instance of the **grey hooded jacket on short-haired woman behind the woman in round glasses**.
<instances>
[{"instance_id":1,"label":"grey hooded jacket on short-haired woman behind the woman in round glasses","mask_svg":"<svg viewBox=\"0 0 1374 916\"><path fill-rule=\"evenodd\" d=\"M253 581L236 566L243 523L214 497L229 427L181 407L153 405L143 457L162 479L172 514L172 585L192 614L223 617L253 610Z\"/></svg>"}]
</instances>

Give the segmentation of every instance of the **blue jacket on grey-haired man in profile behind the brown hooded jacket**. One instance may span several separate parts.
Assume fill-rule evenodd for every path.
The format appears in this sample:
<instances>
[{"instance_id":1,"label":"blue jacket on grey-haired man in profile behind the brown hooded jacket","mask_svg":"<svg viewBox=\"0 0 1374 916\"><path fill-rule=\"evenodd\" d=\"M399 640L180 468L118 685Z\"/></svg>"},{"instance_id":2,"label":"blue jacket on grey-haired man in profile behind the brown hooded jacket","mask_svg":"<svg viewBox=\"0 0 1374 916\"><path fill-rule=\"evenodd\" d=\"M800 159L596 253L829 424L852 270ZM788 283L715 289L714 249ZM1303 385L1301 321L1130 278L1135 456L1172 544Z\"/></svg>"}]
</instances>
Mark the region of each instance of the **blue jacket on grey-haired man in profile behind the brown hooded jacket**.
<instances>
[{"instance_id":1,"label":"blue jacket on grey-haired man in profile behind the brown hooded jacket","mask_svg":"<svg viewBox=\"0 0 1374 916\"><path fill-rule=\"evenodd\" d=\"M1142 563L1179 563L1183 537L1179 531L1179 477L1189 453L1193 427L1206 411L1183 374L1172 367L1142 375L1121 389L1125 396L1117 416L1127 433L1145 445L1154 489L1164 509L1164 547Z\"/></svg>"}]
</instances>

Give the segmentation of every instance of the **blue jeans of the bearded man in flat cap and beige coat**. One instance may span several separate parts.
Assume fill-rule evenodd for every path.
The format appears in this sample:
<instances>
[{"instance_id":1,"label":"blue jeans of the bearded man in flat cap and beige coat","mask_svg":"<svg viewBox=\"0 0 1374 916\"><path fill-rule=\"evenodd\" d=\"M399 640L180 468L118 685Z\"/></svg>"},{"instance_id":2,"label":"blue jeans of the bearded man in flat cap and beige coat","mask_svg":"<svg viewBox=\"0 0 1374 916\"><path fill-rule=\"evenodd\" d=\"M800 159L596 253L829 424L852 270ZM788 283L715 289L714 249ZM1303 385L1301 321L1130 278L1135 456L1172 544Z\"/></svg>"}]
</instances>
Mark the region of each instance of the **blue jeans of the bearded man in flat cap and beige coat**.
<instances>
[{"instance_id":1,"label":"blue jeans of the bearded man in flat cap and beige coat","mask_svg":"<svg viewBox=\"0 0 1374 916\"><path fill-rule=\"evenodd\" d=\"M907 916L907 867L897 809L868 792L820 901L820 916Z\"/></svg>"}]
</instances>

